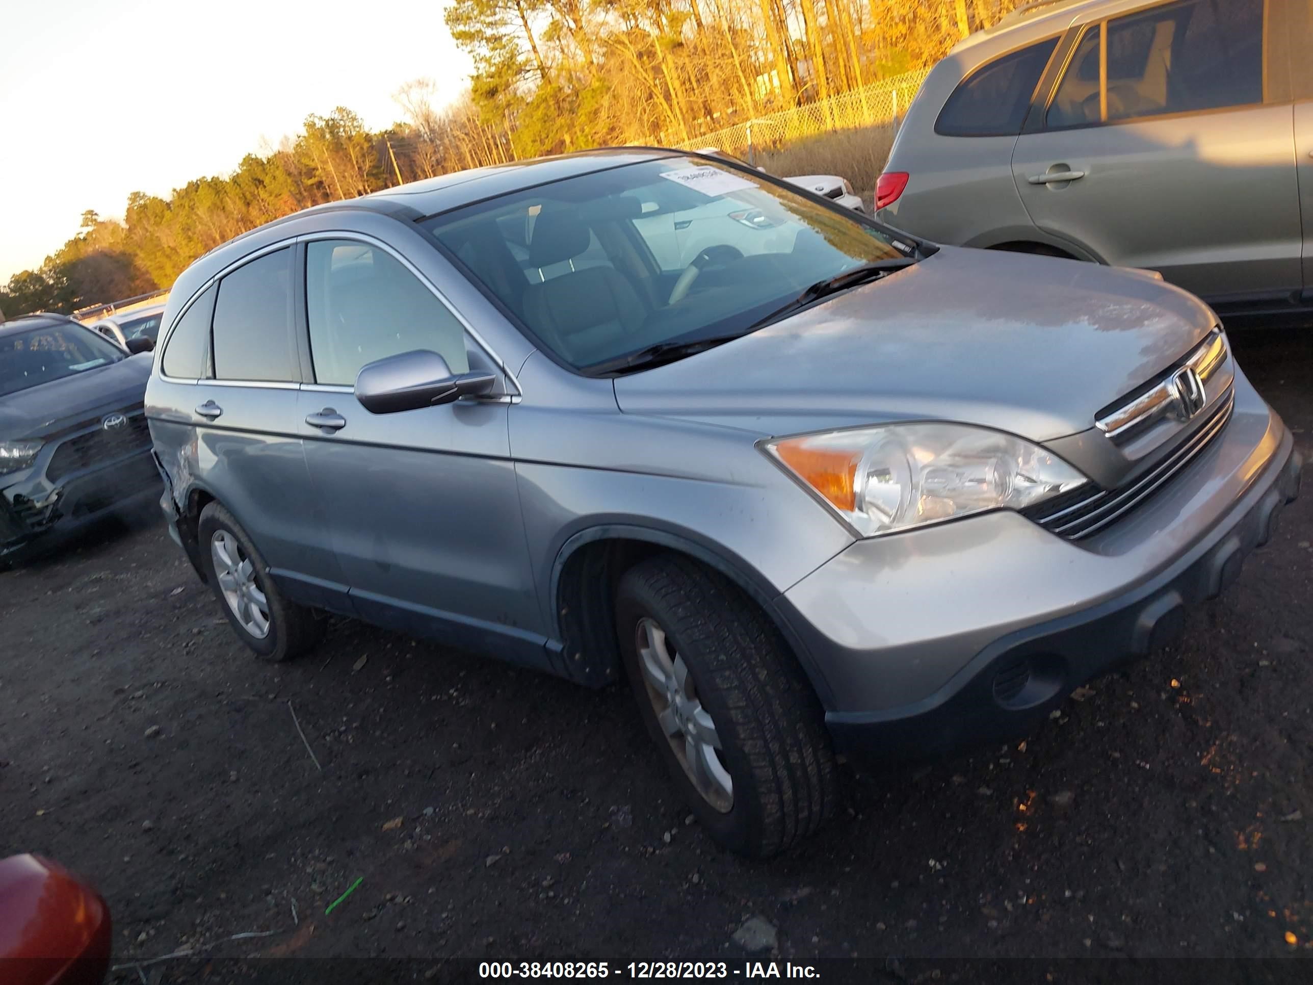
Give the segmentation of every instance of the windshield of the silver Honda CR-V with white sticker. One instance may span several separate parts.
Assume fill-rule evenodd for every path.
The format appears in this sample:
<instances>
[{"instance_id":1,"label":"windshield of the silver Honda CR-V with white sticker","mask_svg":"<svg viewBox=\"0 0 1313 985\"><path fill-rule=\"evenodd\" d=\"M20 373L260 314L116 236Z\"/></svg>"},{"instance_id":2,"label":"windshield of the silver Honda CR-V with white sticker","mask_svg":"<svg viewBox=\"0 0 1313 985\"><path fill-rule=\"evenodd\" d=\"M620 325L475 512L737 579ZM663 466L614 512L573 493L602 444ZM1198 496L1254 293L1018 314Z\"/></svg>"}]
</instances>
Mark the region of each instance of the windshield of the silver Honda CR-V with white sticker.
<instances>
[{"instance_id":1,"label":"windshield of the silver Honda CR-V with white sticker","mask_svg":"<svg viewBox=\"0 0 1313 985\"><path fill-rule=\"evenodd\" d=\"M629 164L421 223L565 362L751 331L807 288L914 248L752 172Z\"/></svg>"}]
</instances>

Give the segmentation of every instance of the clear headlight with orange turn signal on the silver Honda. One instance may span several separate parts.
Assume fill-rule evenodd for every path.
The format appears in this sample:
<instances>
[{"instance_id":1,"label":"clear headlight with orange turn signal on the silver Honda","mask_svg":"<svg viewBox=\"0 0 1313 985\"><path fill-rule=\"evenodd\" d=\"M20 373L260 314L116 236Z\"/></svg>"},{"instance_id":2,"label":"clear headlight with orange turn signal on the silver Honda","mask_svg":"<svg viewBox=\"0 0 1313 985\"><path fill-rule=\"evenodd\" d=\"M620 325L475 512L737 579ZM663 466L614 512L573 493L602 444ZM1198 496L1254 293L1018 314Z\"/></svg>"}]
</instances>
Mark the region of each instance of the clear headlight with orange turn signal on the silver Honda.
<instances>
[{"instance_id":1,"label":"clear headlight with orange turn signal on the silver Honda","mask_svg":"<svg viewBox=\"0 0 1313 985\"><path fill-rule=\"evenodd\" d=\"M1020 510L1087 482L1039 445L965 424L888 424L765 444L864 537Z\"/></svg>"}]
</instances>

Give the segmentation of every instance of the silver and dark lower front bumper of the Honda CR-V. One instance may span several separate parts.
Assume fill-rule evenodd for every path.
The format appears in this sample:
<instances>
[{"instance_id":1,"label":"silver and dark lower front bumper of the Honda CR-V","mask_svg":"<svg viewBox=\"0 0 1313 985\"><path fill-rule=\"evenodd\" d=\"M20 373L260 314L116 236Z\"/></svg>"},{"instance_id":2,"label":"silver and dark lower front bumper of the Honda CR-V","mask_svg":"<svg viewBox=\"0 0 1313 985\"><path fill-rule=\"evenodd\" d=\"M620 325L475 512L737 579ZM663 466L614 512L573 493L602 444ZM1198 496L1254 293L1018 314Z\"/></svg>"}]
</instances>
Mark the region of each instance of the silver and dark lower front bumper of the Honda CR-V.
<instances>
[{"instance_id":1,"label":"silver and dark lower front bumper of the Honda CR-V","mask_svg":"<svg viewBox=\"0 0 1313 985\"><path fill-rule=\"evenodd\" d=\"M1106 535L1077 545L997 512L853 544L777 603L836 746L909 760L1024 734L1170 642L1271 538L1301 465L1237 377L1226 429Z\"/></svg>"}]
</instances>

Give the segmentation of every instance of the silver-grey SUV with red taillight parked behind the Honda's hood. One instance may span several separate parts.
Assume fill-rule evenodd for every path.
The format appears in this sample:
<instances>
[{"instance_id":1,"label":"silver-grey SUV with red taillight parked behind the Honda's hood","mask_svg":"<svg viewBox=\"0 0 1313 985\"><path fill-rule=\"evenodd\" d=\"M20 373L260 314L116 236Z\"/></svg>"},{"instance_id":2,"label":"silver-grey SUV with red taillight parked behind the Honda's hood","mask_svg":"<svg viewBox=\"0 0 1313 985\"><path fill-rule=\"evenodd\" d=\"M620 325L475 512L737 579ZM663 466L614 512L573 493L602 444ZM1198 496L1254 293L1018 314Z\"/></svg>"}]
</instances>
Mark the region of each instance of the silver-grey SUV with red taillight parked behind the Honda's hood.
<instances>
[{"instance_id":1,"label":"silver-grey SUV with red taillight parked behind the Honda's hood","mask_svg":"<svg viewBox=\"0 0 1313 985\"><path fill-rule=\"evenodd\" d=\"M1224 317L1313 307L1313 5L1035 3L930 74L877 215L1158 271Z\"/></svg>"}]
</instances>

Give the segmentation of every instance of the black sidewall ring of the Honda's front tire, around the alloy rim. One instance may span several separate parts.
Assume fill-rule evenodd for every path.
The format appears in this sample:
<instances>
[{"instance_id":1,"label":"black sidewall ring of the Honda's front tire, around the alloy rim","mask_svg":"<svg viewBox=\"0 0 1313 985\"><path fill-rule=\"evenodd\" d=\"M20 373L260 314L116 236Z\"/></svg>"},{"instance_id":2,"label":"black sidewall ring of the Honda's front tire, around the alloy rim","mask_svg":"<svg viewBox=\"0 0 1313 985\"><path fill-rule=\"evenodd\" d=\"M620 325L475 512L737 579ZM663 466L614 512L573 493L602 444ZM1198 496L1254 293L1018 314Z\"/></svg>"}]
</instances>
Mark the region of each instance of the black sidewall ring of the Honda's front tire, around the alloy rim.
<instances>
[{"instance_id":1,"label":"black sidewall ring of the Honda's front tire, around the alloy rim","mask_svg":"<svg viewBox=\"0 0 1313 985\"><path fill-rule=\"evenodd\" d=\"M655 620L675 644L676 653L684 658L684 666L693 675L699 700L716 722L716 732L721 737L721 762L734 781L734 804L729 812L720 812L706 802L688 774L684 772L683 763L671 749L660 722L656 721L656 709L647 695L647 684L638 659L637 628L638 620L643 616ZM760 802L754 796L755 791L752 789L752 770L743 753L738 729L734 726L734 716L723 693L714 686L701 654L684 645L685 641L681 638L680 630L679 615L671 612L668 605L662 604L662 600L655 598L654 592L647 591L642 582L621 580L616 596L616 632L620 637L625 674L629 678L634 699L638 701L639 716L647 726L647 733L656 745L659 755L679 787L684 801L712 838L731 850L752 854L751 844L756 833L762 830Z\"/></svg>"}]
</instances>

